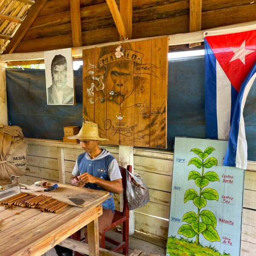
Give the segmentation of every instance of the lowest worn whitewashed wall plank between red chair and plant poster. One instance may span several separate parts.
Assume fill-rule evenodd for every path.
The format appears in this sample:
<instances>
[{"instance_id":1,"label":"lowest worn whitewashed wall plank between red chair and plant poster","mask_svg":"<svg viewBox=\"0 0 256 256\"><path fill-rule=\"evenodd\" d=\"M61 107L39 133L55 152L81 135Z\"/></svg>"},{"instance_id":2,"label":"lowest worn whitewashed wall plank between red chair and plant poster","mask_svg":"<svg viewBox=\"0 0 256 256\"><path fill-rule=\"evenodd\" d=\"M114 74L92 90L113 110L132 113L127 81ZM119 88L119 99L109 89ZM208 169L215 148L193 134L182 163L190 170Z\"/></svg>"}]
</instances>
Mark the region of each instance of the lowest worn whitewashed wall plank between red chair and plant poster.
<instances>
[{"instance_id":1,"label":"lowest worn whitewashed wall plank between red chair and plant poster","mask_svg":"<svg viewBox=\"0 0 256 256\"><path fill-rule=\"evenodd\" d=\"M167 238L169 221L135 212L135 230Z\"/></svg>"}]
</instances>

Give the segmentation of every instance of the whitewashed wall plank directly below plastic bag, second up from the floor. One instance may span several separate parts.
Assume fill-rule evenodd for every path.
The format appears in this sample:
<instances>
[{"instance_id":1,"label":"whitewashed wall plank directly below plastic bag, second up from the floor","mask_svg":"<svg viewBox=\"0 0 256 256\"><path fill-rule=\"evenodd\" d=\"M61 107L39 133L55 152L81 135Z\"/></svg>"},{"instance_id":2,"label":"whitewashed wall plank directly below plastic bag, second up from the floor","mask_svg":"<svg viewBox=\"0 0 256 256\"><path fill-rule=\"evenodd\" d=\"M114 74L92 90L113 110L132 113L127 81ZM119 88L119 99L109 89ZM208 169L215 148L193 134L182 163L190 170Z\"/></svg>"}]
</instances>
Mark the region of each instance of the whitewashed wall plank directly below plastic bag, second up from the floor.
<instances>
[{"instance_id":1,"label":"whitewashed wall plank directly below plastic bag, second up from the floor","mask_svg":"<svg viewBox=\"0 0 256 256\"><path fill-rule=\"evenodd\" d=\"M140 212L169 220L170 207L163 204L148 202L143 207L135 209L135 212Z\"/></svg>"}]
</instances>

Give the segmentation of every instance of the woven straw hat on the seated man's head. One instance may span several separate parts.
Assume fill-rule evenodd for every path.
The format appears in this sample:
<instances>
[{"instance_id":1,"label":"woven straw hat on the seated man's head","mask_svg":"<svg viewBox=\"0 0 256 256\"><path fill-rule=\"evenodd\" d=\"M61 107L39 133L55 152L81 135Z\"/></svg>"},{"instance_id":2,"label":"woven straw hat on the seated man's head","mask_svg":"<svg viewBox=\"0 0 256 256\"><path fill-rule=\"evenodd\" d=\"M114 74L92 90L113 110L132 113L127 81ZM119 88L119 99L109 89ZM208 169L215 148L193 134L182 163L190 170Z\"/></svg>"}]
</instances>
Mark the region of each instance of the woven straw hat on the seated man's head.
<instances>
[{"instance_id":1,"label":"woven straw hat on the seated man's head","mask_svg":"<svg viewBox=\"0 0 256 256\"><path fill-rule=\"evenodd\" d=\"M68 139L78 139L78 140L108 140L99 137L98 124L94 122L83 122L82 128L79 133L73 136L67 137Z\"/></svg>"}]
</instances>

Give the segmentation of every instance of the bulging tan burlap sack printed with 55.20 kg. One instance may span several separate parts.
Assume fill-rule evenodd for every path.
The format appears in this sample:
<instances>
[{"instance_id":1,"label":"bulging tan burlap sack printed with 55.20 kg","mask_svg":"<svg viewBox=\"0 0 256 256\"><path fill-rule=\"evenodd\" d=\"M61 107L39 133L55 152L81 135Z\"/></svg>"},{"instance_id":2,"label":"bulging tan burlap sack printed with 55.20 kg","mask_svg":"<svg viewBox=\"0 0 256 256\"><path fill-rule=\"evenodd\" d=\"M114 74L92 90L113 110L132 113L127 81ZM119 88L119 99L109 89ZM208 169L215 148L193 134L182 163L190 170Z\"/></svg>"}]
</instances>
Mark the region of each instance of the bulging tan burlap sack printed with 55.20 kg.
<instances>
[{"instance_id":1,"label":"bulging tan burlap sack printed with 55.20 kg","mask_svg":"<svg viewBox=\"0 0 256 256\"><path fill-rule=\"evenodd\" d=\"M0 124L0 184L26 172L28 145L18 126Z\"/></svg>"}]
</instances>

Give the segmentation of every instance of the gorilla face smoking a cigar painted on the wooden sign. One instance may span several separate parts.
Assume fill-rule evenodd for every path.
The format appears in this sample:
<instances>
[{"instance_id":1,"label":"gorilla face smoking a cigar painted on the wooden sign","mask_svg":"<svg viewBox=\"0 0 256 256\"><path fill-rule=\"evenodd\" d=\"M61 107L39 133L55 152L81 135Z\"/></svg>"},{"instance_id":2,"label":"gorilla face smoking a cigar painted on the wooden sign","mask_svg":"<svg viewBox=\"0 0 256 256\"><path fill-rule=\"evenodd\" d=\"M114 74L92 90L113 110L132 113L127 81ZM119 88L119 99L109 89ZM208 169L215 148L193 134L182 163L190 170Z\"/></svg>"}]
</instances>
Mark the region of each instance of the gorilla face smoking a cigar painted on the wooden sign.
<instances>
[{"instance_id":1,"label":"gorilla face smoking a cigar painted on the wooden sign","mask_svg":"<svg viewBox=\"0 0 256 256\"><path fill-rule=\"evenodd\" d=\"M116 61L108 64L107 67L107 97L120 105L124 99L131 95L133 81L132 61ZM112 96L112 97L111 97Z\"/></svg>"}]
</instances>

